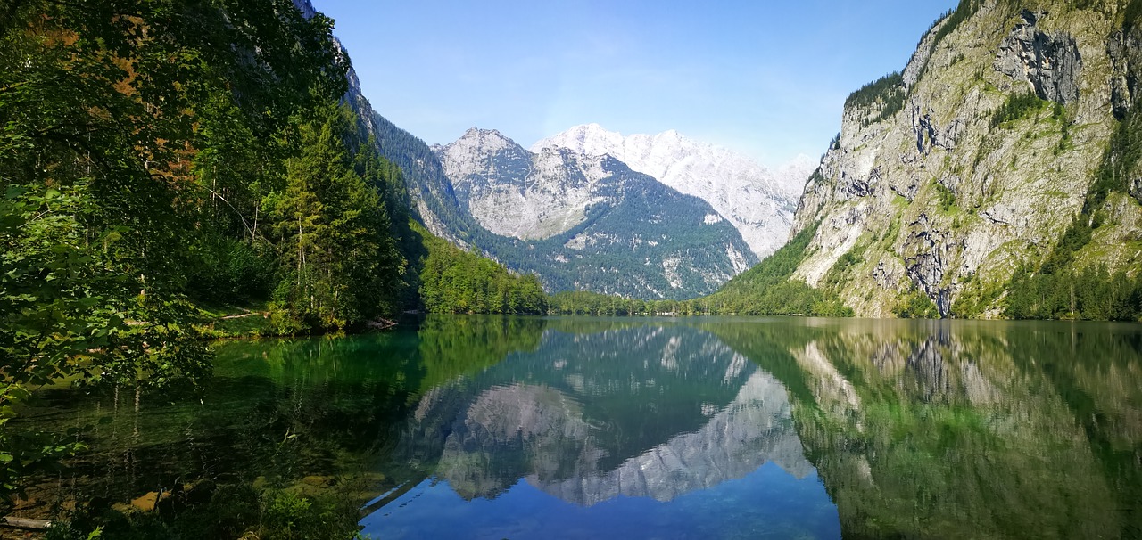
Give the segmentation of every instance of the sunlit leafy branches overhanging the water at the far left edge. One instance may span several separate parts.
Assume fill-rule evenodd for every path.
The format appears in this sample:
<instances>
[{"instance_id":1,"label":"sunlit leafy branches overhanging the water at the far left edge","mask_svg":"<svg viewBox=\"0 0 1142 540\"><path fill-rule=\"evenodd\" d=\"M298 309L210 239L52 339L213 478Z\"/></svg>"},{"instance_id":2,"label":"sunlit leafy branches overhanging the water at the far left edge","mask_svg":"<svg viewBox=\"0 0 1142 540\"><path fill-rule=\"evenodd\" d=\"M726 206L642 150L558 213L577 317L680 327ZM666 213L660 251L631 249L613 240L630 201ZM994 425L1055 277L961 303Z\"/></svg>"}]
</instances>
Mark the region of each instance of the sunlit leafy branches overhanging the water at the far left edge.
<instances>
[{"instance_id":1,"label":"sunlit leafy branches overhanging the water at the far left edge","mask_svg":"<svg viewBox=\"0 0 1142 540\"><path fill-rule=\"evenodd\" d=\"M9 185L0 199L0 494L37 467L82 448L5 425L31 388L59 380L161 387L201 380L207 350L182 299L147 295L123 275L114 244L86 237L95 211L83 186ZM87 249L94 243L99 247ZM100 249L102 248L102 249Z\"/></svg>"}]
</instances>

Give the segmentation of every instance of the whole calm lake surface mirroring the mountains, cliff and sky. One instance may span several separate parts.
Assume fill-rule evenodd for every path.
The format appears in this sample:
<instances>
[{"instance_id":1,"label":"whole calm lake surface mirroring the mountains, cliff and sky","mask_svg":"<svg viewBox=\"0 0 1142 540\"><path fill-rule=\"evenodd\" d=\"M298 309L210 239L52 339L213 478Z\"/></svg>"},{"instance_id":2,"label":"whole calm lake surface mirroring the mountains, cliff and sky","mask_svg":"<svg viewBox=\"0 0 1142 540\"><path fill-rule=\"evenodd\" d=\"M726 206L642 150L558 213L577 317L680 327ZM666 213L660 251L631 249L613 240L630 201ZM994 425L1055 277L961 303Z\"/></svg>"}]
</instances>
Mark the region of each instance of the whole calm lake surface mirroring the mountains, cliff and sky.
<instances>
[{"instance_id":1,"label":"whole calm lake surface mirroring the mountains, cliff and sky","mask_svg":"<svg viewBox=\"0 0 1142 540\"><path fill-rule=\"evenodd\" d=\"M91 426L43 500L278 478L377 539L1142 538L1140 356L1127 324L429 317L25 425Z\"/></svg>"}]
</instances>

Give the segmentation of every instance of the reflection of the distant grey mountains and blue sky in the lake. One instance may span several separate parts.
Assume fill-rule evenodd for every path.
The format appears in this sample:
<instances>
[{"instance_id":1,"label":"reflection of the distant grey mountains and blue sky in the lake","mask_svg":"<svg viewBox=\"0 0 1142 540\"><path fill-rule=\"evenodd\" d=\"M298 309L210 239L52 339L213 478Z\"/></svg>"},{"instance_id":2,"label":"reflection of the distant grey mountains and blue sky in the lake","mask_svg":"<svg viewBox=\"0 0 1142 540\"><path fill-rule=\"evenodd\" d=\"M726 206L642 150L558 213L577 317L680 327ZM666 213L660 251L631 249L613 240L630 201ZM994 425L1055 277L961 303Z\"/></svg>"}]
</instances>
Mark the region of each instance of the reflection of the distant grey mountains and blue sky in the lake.
<instances>
[{"instance_id":1,"label":"reflection of the distant grey mountains and blue sky in the lake","mask_svg":"<svg viewBox=\"0 0 1142 540\"><path fill-rule=\"evenodd\" d=\"M394 459L433 464L427 467L432 477L367 517L367 533L425 534L424 524L412 522L429 514L457 515L456 508L474 499L485 500L484 515L520 521L517 499L529 497L546 499L545 513L598 523L586 527L585 535L602 534L614 525L601 518L608 510L592 514L553 505L552 497L594 507L626 498L670 502L697 493L716 503L725 494L710 489L748 478L766 462L779 469L750 483L809 487L787 490L812 499L801 505L811 513L803 532L821 529L818 521L837 527L836 509L812 476L794 429L785 387L715 336L681 325L548 330L536 350L509 354L480 373L426 392ZM452 490L459 499L425 497L439 490ZM505 498L508 491L515 493ZM657 505L641 515L621 514L629 525L684 508L697 507ZM458 515L455 525L437 518L429 526L444 534L472 534L471 508ZM662 523L640 527L645 534ZM476 535L499 534L493 530ZM550 532L524 527L514 534ZM676 537L681 531L662 532Z\"/></svg>"}]
</instances>

